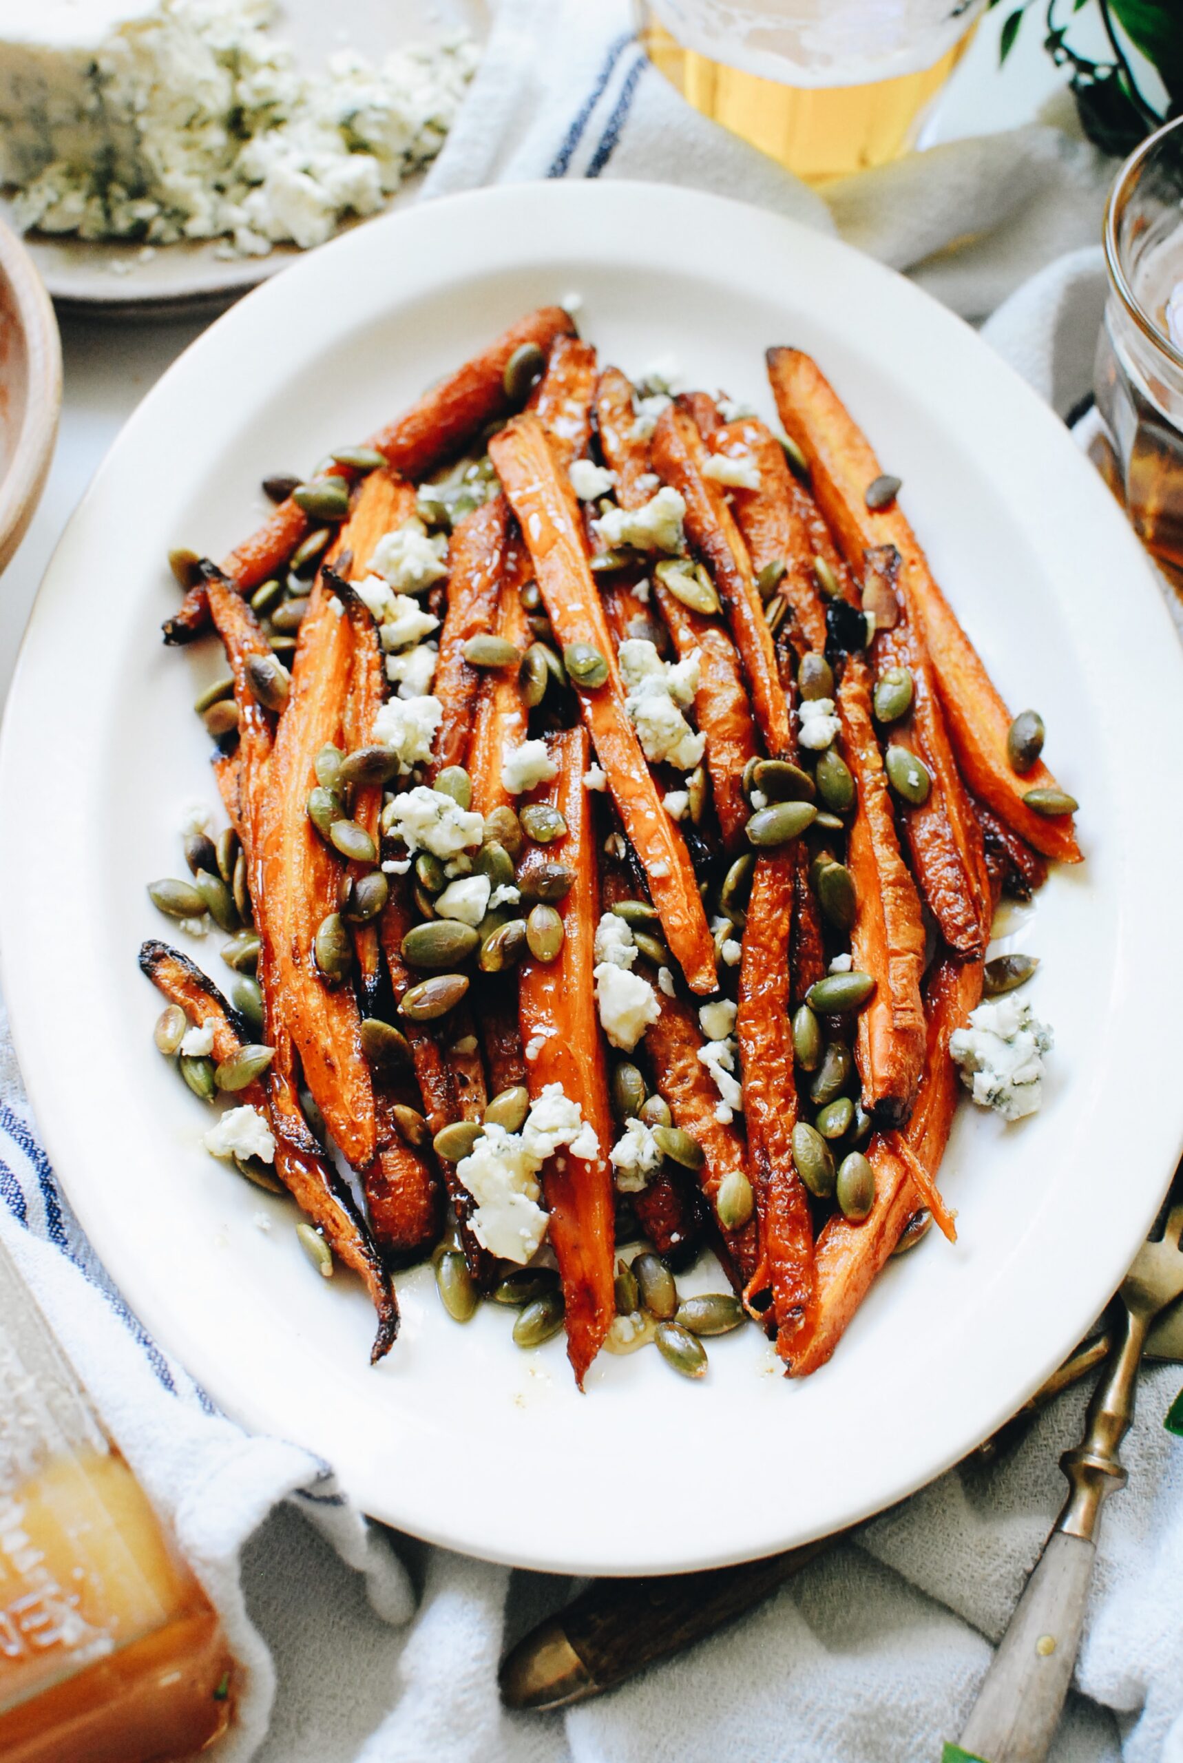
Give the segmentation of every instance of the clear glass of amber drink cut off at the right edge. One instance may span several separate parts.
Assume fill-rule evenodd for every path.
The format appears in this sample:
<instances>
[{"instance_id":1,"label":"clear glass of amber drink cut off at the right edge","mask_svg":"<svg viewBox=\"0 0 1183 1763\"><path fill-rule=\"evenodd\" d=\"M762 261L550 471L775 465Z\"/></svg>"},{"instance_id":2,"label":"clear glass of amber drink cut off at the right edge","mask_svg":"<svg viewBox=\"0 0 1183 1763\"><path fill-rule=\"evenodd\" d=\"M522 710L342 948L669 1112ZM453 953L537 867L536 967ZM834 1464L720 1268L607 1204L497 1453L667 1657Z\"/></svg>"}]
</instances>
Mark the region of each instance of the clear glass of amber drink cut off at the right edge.
<instances>
[{"instance_id":1,"label":"clear glass of amber drink cut off at the right edge","mask_svg":"<svg viewBox=\"0 0 1183 1763\"><path fill-rule=\"evenodd\" d=\"M1183 118L1142 141L1118 173L1105 268L1095 386L1109 451L1098 464L1183 589Z\"/></svg>"}]
</instances>

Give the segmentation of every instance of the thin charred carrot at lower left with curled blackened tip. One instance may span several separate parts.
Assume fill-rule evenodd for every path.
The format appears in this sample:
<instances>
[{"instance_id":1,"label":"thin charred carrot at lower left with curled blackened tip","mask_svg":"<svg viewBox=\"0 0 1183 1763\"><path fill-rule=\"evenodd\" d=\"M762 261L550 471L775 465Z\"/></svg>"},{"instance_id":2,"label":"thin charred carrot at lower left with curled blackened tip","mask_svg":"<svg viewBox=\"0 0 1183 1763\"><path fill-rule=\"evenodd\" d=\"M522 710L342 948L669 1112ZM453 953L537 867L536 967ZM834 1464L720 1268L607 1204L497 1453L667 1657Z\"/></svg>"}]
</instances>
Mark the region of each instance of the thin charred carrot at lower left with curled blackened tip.
<instances>
[{"instance_id":1,"label":"thin charred carrot at lower left with curled blackened tip","mask_svg":"<svg viewBox=\"0 0 1183 1763\"><path fill-rule=\"evenodd\" d=\"M222 998L213 980L167 943L148 941L139 950L139 966L171 1003L178 1003L197 1026L213 1030L213 1056L222 1061L243 1044L243 1026ZM317 1225L339 1259L365 1283L377 1310L377 1336L370 1352L376 1363L398 1333L398 1303L390 1276L383 1269L370 1232L353 1204L349 1188L323 1155L303 1118L298 1125L277 1107L275 1082L254 1081L240 1090L240 1105L257 1107L275 1132L275 1172L300 1209Z\"/></svg>"}]
</instances>

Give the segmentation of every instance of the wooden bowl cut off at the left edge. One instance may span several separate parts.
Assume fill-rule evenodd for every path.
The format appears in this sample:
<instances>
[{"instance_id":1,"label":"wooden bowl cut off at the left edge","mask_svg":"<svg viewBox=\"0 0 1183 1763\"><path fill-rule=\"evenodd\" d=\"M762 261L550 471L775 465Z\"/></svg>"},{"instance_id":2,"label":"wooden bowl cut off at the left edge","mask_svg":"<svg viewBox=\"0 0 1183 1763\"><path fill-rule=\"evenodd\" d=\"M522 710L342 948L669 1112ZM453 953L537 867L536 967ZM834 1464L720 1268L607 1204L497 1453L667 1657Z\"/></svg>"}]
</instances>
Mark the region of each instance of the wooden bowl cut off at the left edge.
<instances>
[{"instance_id":1,"label":"wooden bowl cut off at the left edge","mask_svg":"<svg viewBox=\"0 0 1183 1763\"><path fill-rule=\"evenodd\" d=\"M0 569L46 487L62 411L62 338L21 240L0 222Z\"/></svg>"}]
</instances>

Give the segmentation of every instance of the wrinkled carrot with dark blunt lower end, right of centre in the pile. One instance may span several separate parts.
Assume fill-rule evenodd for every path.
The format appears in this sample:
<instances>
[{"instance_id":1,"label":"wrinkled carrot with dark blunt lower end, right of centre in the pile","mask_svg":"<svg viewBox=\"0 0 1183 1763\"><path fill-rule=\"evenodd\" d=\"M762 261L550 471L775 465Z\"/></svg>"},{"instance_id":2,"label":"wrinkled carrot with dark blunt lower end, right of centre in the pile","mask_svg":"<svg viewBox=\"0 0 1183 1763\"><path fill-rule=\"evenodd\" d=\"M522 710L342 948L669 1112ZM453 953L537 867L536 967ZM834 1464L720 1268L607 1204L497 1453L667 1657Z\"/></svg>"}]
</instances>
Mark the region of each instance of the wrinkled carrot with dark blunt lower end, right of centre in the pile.
<instances>
[{"instance_id":1,"label":"wrinkled carrot with dark blunt lower end, right of centre in the pile","mask_svg":"<svg viewBox=\"0 0 1183 1763\"><path fill-rule=\"evenodd\" d=\"M859 1012L855 1060L862 1105L878 1125L899 1127L911 1112L924 1068L924 924L915 883L899 855L862 656L846 659L837 707L843 751L859 790L846 848L859 903L850 948L855 968L874 978L874 991Z\"/></svg>"}]
</instances>

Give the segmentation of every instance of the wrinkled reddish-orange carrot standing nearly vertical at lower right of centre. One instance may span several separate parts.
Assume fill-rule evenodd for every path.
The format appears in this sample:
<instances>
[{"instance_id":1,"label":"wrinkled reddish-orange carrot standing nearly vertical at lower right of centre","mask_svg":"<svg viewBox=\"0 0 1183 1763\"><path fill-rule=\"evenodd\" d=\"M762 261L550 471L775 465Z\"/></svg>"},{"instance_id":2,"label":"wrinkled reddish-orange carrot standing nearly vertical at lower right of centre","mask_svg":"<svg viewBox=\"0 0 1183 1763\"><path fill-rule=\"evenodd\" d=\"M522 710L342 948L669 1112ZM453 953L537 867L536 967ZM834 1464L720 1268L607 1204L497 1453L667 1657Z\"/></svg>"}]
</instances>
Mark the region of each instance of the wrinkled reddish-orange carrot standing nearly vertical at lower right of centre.
<instances>
[{"instance_id":1,"label":"wrinkled reddish-orange carrot standing nearly vertical at lower right of centre","mask_svg":"<svg viewBox=\"0 0 1183 1763\"><path fill-rule=\"evenodd\" d=\"M751 883L739 968L735 1035L744 1072L748 1169L760 1216L760 1273L772 1287L776 1350L792 1358L813 1308L813 1224L793 1162L797 1086L788 1014L788 948L795 852L760 857ZM751 1296L751 1294L749 1294Z\"/></svg>"}]
</instances>

